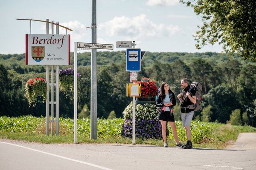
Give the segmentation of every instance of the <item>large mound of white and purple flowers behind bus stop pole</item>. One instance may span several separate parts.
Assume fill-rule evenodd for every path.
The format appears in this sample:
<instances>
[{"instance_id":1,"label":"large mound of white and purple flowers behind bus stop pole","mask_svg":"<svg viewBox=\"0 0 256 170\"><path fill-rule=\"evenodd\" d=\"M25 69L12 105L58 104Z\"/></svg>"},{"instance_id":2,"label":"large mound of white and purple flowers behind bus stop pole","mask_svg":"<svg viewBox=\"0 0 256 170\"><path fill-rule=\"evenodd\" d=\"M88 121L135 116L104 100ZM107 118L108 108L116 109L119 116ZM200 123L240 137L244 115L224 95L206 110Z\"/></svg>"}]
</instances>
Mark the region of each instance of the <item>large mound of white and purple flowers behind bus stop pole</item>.
<instances>
[{"instance_id":1,"label":"large mound of white and purple flowers behind bus stop pole","mask_svg":"<svg viewBox=\"0 0 256 170\"><path fill-rule=\"evenodd\" d=\"M132 102L123 111L125 122L122 125L122 136L132 136ZM158 109L153 104L136 105L135 108L135 136L140 138L162 137L161 123L157 119ZM169 130L166 128L166 135Z\"/></svg>"}]
</instances>

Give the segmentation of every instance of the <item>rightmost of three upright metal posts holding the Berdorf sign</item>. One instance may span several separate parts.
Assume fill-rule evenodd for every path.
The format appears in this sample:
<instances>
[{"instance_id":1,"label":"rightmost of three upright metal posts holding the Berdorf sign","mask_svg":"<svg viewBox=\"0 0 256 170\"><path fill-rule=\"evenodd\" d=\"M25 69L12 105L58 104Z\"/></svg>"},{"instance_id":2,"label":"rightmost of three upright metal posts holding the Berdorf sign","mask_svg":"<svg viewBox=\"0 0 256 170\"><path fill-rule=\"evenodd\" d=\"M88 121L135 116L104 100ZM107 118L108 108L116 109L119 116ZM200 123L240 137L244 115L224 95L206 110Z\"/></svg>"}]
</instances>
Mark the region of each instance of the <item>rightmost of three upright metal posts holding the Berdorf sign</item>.
<instances>
[{"instance_id":1,"label":"rightmost of three upright metal posts holding the Berdorf sign","mask_svg":"<svg viewBox=\"0 0 256 170\"><path fill-rule=\"evenodd\" d=\"M56 34L59 34L59 23L56 23ZM60 103L60 95L59 95L59 66L56 65L56 88L55 88L55 93L56 93L56 105L55 105L55 111L56 111L56 136L58 136L58 130L59 130L59 103Z\"/></svg>"}]
</instances>

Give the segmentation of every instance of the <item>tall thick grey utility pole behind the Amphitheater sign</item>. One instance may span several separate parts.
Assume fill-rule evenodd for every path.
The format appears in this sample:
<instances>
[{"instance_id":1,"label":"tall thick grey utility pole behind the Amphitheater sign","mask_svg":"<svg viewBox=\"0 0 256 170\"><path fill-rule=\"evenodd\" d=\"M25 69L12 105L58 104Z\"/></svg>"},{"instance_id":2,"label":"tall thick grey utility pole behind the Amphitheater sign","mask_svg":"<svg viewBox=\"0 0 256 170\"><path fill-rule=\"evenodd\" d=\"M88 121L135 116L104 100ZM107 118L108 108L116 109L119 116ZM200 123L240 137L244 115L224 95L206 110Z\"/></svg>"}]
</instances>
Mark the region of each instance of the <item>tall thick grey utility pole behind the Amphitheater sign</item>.
<instances>
[{"instance_id":1,"label":"tall thick grey utility pole behind the Amphitheater sign","mask_svg":"<svg viewBox=\"0 0 256 170\"><path fill-rule=\"evenodd\" d=\"M96 0L92 0L92 43L96 43ZM91 129L90 139L97 139L97 63L96 49L91 53Z\"/></svg>"}]
</instances>

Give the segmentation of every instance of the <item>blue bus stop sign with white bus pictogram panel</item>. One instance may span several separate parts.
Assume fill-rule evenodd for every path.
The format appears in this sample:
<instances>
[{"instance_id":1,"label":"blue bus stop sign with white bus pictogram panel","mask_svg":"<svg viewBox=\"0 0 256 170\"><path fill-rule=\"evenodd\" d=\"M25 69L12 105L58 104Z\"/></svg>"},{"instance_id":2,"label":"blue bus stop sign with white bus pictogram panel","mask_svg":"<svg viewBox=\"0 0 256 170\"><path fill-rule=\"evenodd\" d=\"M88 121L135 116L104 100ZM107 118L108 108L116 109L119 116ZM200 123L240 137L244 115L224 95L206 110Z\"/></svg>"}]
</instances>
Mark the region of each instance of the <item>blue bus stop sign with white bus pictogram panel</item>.
<instances>
[{"instance_id":1,"label":"blue bus stop sign with white bus pictogram panel","mask_svg":"<svg viewBox=\"0 0 256 170\"><path fill-rule=\"evenodd\" d=\"M126 49L126 71L140 71L140 48Z\"/></svg>"}]
</instances>

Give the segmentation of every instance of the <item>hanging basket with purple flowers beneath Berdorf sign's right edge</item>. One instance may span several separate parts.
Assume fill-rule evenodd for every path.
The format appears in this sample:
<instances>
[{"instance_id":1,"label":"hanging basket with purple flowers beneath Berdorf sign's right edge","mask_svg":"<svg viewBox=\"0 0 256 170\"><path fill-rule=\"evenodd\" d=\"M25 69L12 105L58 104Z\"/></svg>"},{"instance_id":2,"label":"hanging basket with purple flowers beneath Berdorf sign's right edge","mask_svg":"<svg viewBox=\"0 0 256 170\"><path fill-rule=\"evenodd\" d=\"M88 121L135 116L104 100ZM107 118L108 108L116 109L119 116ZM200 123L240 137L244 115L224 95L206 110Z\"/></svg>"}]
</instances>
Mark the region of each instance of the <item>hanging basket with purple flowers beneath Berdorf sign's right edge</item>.
<instances>
[{"instance_id":1,"label":"hanging basket with purple flowers beneath Berdorf sign's right edge","mask_svg":"<svg viewBox=\"0 0 256 170\"><path fill-rule=\"evenodd\" d=\"M80 78L81 74L77 73L77 77ZM74 69L67 68L59 71L59 86L60 91L64 92L66 98L68 96L68 91L74 91ZM80 95L80 81L77 81L77 96Z\"/></svg>"}]
</instances>

